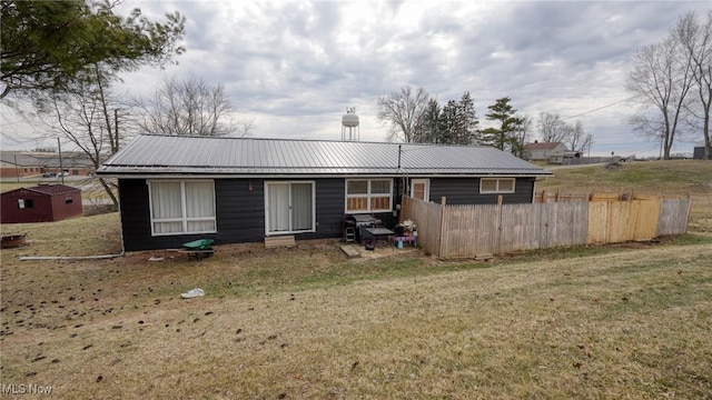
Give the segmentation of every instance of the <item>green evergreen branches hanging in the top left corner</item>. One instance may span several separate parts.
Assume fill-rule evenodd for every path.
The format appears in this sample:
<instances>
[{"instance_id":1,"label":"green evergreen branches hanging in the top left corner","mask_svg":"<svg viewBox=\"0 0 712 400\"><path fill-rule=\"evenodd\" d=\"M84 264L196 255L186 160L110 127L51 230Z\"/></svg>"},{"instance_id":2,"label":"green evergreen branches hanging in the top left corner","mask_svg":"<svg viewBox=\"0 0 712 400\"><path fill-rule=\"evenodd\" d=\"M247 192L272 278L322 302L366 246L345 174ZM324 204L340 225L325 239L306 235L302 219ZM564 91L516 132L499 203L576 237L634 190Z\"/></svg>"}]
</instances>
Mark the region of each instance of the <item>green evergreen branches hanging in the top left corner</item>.
<instances>
[{"instance_id":1,"label":"green evergreen branches hanging in the top left corner","mask_svg":"<svg viewBox=\"0 0 712 400\"><path fill-rule=\"evenodd\" d=\"M162 66L180 54L185 18L152 22L134 9L113 13L116 2L0 0L0 99L11 92L46 99L70 91L101 66L105 78L144 66Z\"/></svg>"}]
</instances>

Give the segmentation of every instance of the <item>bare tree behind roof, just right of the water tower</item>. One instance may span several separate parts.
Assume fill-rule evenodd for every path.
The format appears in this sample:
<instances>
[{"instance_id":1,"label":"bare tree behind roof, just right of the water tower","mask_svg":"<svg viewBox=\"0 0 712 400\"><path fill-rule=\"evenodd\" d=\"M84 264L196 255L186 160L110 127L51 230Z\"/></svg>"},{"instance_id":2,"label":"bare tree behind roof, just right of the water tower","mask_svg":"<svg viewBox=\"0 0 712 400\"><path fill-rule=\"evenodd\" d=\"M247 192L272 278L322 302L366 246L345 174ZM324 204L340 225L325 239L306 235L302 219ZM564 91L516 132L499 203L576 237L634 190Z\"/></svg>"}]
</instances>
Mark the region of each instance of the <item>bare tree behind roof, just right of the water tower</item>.
<instances>
[{"instance_id":1,"label":"bare tree behind roof, just right of the water tower","mask_svg":"<svg viewBox=\"0 0 712 400\"><path fill-rule=\"evenodd\" d=\"M415 142L422 132L424 114L428 108L431 94L419 88L413 92L409 86L400 91L378 98L378 119L390 124L389 141L402 140L406 143Z\"/></svg>"}]
</instances>

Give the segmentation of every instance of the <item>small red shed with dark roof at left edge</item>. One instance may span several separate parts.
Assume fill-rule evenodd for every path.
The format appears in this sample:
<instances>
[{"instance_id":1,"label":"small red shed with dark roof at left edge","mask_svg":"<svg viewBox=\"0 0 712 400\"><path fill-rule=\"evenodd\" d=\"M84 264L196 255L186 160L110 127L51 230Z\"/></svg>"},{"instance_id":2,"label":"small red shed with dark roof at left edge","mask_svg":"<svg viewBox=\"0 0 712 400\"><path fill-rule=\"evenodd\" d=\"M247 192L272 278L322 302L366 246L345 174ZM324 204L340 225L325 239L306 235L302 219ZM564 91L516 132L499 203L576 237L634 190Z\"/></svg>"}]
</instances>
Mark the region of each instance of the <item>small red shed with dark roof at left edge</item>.
<instances>
[{"instance_id":1,"label":"small red shed with dark roof at left edge","mask_svg":"<svg viewBox=\"0 0 712 400\"><path fill-rule=\"evenodd\" d=\"M81 190L65 184L20 188L0 197L0 223L60 221L82 213Z\"/></svg>"}]
</instances>

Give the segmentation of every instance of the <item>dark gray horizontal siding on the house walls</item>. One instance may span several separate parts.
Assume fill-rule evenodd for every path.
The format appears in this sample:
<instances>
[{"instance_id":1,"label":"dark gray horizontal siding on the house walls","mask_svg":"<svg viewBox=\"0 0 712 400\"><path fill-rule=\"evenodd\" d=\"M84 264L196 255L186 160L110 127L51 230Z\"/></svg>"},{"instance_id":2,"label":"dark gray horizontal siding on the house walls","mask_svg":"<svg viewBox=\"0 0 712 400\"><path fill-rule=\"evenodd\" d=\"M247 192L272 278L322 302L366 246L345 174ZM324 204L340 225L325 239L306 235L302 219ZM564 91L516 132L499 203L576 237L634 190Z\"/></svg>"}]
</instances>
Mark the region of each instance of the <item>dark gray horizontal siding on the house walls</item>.
<instances>
[{"instance_id":1,"label":"dark gray horizontal siding on the house walls","mask_svg":"<svg viewBox=\"0 0 712 400\"><path fill-rule=\"evenodd\" d=\"M276 180L284 181L284 180ZM316 183L316 232L297 233L297 239L340 238L344 229L345 180L314 179ZM516 192L503 194L505 203L532 201L534 178L517 178ZM400 202L400 179L394 180L394 207ZM497 194L479 194L477 178L432 178L431 201L447 198L449 204L496 203ZM216 244L258 242L265 238L265 180L216 179L216 217L218 232L152 237L148 184L145 179L119 179L121 228L127 251L180 248L201 238ZM384 227L397 223L393 212L376 213Z\"/></svg>"}]
</instances>

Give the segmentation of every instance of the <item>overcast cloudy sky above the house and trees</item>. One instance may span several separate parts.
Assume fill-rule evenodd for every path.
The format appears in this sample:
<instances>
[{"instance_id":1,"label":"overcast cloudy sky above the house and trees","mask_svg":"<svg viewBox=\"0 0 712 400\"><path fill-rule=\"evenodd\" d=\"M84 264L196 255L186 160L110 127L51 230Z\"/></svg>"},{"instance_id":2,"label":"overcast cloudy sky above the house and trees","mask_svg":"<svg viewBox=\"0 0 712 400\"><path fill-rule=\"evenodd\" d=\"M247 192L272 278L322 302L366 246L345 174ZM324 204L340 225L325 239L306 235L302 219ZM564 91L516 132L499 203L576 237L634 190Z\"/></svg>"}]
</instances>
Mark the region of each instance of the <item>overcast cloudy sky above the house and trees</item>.
<instances>
[{"instance_id":1,"label":"overcast cloudy sky above the house and trees","mask_svg":"<svg viewBox=\"0 0 712 400\"><path fill-rule=\"evenodd\" d=\"M592 153L657 154L617 103L634 52L709 1L134 1L187 18L177 66L125 76L132 94L166 77L221 83L254 137L334 139L355 107L362 141L384 141L379 96L409 84L441 104L469 91L481 126L510 97L521 114L581 120ZM593 111L593 112L591 112ZM580 116L580 117L576 117ZM3 138L3 141L6 138ZM692 151L692 142L675 151ZM673 152L675 152L673 151Z\"/></svg>"}]
</instances>

